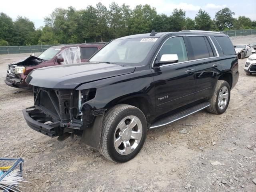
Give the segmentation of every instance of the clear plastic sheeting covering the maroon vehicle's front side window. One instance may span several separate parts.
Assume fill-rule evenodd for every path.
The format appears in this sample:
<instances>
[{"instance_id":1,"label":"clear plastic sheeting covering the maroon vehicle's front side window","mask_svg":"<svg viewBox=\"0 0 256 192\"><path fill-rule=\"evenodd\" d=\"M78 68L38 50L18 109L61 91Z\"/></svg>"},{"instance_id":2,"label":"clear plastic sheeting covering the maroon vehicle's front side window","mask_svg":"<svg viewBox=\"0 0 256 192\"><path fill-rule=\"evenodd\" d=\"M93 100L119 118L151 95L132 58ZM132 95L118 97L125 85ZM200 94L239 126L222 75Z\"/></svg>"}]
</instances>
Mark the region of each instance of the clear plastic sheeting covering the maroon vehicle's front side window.
<instances>
[{"instance_id":1,"label":"clear plastic sheeting covering the maroon vehicle's front side window","mask_svg":"<svg viewBox=\"0 0 256 192\"><path fill-rule=\"evenodd\" d=\"M58 56L64 59L61 64L75 64L81 62L80 47L69 47L64 49Z\"/></svg>"}]
</instances>

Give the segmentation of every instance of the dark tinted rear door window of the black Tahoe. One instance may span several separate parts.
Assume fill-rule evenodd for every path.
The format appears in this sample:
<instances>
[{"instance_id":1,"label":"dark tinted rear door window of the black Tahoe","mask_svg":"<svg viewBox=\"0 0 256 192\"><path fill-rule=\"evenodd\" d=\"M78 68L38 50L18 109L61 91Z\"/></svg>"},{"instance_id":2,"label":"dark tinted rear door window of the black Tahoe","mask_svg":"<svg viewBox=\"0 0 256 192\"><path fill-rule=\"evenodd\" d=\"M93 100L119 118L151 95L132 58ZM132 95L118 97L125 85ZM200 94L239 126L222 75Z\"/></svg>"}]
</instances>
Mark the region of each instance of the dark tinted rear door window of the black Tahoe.
<instances>
[{"instance_id":1,"label":"dark tinted rear door window of the black Tahoe","mask_svg":"<svg viewBox=\"0 0 256 192\"><path fill-rule=\"evenodd\" d=\"M191 42L195 59L210 57L208 47L203 36L190 36L188 38Z\"/></svg>"}]
</instances>

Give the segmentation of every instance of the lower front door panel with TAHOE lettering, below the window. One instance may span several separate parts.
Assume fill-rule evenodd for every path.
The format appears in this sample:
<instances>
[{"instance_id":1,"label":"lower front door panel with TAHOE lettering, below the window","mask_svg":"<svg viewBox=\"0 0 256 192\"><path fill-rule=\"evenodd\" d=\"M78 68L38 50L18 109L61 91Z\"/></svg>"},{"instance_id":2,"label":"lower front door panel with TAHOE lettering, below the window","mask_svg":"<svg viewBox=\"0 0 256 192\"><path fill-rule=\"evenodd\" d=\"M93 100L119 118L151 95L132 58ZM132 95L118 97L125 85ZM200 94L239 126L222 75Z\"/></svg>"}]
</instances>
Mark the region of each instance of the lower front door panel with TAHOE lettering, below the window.
<instances>
[{"instance_id":1,"label":"lower front door panel with TAHOE lettering, below the window","mask_svg":"<svg viewBox=\"0 0 256 192\"><path fill-rule=\"evenodd\" d=\"M152 69L158 115L194 102L195 73L186 73L186 71L194 69L195 66L188 63Z\"/></svg>"}]
</instances>

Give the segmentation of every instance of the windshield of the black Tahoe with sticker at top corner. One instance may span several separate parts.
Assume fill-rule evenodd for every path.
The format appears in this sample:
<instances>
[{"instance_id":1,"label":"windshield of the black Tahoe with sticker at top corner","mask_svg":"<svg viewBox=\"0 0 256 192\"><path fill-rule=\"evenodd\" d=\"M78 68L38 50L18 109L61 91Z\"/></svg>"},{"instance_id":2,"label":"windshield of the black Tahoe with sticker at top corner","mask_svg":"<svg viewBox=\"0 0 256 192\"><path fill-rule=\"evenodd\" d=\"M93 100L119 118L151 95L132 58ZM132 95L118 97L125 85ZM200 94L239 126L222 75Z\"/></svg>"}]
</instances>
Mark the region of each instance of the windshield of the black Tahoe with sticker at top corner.
<instances>
[{"instance_id":1,"label":"windshield of the black Tahoe with sticker at top corner","mask_svg":"<svg viewBox=\"0 0 256 192\"><path fill-rule=\"evenodd\" d=\"M109 62L124 65L139 64L147 57L157 40L158 38L114 40L99 50L90 59L90 62Z\"/></svg>"}]
</instances>

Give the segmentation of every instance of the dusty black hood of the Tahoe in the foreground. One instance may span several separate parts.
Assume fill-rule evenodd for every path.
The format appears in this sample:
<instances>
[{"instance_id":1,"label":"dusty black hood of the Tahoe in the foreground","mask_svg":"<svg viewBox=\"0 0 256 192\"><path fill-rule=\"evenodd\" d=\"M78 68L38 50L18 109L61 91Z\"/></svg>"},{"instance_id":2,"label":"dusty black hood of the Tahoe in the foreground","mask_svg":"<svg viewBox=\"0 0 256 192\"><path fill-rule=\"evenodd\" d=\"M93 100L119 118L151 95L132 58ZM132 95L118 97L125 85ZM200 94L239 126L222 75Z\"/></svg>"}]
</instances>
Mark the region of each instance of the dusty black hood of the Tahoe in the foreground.
<instances>
[{"instance_id":1,"label":"dusty black hood of the Tahoe in the foreground","mask_svg":"<svg viewBox=\"0 0 256 192\"><path fill-rule=\"evenodd\" d=\"M134 72L133 66L106 63L79 63L38 68L30 72L26 83L32 86L74 89L80 84Z\"/></svg>"}]
</instances>

